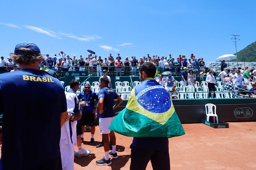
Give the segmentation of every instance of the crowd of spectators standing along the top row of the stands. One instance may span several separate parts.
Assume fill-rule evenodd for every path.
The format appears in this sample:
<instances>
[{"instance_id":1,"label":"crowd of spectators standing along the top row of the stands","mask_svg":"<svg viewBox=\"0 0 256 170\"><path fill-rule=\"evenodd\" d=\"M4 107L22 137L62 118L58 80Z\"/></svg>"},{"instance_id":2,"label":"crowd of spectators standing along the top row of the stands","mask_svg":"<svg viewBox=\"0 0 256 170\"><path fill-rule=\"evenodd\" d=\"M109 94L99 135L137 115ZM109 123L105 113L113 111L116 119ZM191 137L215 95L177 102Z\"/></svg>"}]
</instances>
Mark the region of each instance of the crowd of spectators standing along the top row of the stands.
<instances>
[{"instance_id":1,"label":"crowd of spectators standing along the top row of the stands","mask_svg":"<svg viewBox=\"0 0 256 170\"><path fill-rule=\"evenodd\" d=\"M2 71L10 71L13 70L13 65L15 65L12 60L8 57L8 62L1 63L1 70ZM195 75L199 75L199 70L204 69L205 63L203 58L196 59L193 54L187 59L186 55L179 55L177 60L175 60L171 54L168 57L160 57L157 55L153 55L152 57L147 56L140 57L139 59L136 56L128 56L123 58L118 54L116 58L114 58L111 54L108 57L104 57L104 60L101 56L97 55L88 55L87 57L83 57L80 55L77 58L75 55L71 58L69 55L66 55L63 51L59 53L59 58L55 54L53 57L49 56L48 54L45 55L43 59L40 69L45 70L48 69L56 69L59 76L62 76L62 71L88 71L89 75L92 76L93 74L97 76L102 76L102 70L107 70L110 73L110 76L115 75L122 75L122 70L124 76L138 76L137 74L137 67L143 64L144 62L151 62L155 66L160 66L161 71L171 71L174 75L179 76L180 72L183 70L183 67L187 67L188 69L193 69ZM6 70L7 69L7 70Z\"/></svg>"}]
</instances>

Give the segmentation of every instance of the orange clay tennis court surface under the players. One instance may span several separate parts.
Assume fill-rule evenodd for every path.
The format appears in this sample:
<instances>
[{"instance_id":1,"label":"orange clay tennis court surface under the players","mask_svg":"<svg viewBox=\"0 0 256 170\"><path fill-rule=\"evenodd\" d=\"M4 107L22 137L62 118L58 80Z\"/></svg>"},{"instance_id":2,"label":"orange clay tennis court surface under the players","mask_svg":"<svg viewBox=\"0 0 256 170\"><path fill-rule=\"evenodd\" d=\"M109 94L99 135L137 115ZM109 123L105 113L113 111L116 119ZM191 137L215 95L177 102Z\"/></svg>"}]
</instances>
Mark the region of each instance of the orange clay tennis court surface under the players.
<instances>
[{"instance_id":1,"label":"orange clay tennis court surface under the players","mask_svg":"<svg viewBox=\"0 0 256 170\"><path fill-rule=\"evenodd\" d=\"M256 169L256 122L230 122L226 129L213 129L202 123L182 125L186 135L169 138L171 169ZM95 148L101 141L99 127L94 145L89 145L90 132L85 132L84 138L82 146L91 154L75 157L75 169L129 169L132 137L116 134L119 158L112 159L110 166L95 164L104 156L103 147ZM152 169L150 162L147 169Z\"/></svg>"}]
</instances>

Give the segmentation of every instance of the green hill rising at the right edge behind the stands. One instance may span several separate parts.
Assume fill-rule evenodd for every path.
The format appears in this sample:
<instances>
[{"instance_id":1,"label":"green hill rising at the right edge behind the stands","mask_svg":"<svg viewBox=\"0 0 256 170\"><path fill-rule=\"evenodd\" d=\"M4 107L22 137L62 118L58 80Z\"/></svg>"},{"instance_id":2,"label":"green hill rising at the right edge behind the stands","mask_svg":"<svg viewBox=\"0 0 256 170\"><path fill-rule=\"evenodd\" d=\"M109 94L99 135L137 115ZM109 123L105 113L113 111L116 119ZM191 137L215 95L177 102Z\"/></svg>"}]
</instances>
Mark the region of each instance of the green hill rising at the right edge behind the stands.
<instances>
[{"instance_id":1,"label":"green hill rising at the right edge behind the stands","mask_svg":"<svg viewBox=\"0 0 256 170\"><path fill-rule=\"evenodd\" d=\"M237 56L238 62L256 62L256 41L237 52ZM236 62L236 59L231 61Z\"/></svg>"}]
</instances>

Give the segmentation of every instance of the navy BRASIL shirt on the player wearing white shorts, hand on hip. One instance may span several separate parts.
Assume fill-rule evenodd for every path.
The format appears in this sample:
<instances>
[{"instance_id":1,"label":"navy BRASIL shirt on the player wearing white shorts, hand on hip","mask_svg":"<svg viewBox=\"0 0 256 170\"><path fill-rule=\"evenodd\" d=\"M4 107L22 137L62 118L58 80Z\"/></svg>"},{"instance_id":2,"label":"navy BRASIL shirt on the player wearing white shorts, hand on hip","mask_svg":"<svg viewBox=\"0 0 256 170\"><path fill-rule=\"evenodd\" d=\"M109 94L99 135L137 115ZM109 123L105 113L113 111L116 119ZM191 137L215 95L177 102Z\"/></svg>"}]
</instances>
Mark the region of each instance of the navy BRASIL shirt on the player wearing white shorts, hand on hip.
<instances>
[{"instance_id":1,"label":"navy BRASIL shirt on the player wearing white shorts, hand on hip","mask_svg":"<svg viewBox=\"0 0 256 170\"><path fill-rule=\"evenodd\" d=\"M119 95L110 87L104 87L100 89L100 91L98 92L98 100L100 100L100 98L104 98L103 109L106 108L104 112L100 114L100 118L115 116L113 110L114 99L117 99L118 97Z\"/></svg>"}]
</instances>

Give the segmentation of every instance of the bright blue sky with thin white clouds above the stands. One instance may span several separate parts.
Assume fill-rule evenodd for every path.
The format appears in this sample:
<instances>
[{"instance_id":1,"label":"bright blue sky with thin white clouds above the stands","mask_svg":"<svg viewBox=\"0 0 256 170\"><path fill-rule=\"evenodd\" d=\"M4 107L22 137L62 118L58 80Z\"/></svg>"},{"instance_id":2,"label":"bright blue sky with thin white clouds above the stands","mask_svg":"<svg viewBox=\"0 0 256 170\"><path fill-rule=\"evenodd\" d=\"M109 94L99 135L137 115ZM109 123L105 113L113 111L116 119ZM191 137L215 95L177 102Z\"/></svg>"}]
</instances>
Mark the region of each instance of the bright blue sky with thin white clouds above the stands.
<instances>
[{"instance_id":1,"label":"bright blue sky with thin white clouds above the stands","mask_svg":"<svg viewBox=\"0 0 256 170\"><path fill-rule=\"evenodd\" d=\"M255 0L1 1L0 55L20 41L42 54L121 57L179 54L216 61L256 41ZM122 59L123 59L122 58Z\"/></svg>"}]
</instances>

